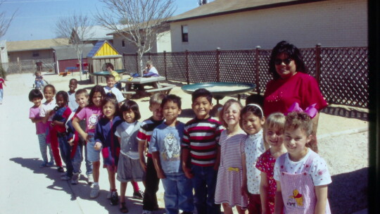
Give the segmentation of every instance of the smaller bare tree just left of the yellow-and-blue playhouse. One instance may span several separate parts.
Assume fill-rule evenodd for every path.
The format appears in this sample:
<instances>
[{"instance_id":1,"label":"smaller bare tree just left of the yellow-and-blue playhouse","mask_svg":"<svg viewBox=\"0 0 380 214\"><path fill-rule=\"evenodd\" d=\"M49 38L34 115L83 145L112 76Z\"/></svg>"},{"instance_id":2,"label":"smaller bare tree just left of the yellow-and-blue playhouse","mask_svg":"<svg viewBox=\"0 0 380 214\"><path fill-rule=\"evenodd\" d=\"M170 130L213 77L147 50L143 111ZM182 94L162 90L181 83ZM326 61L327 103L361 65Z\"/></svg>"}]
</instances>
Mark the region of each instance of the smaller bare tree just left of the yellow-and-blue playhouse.
<instances>
[{"instance_id":1,"label":"smaller bare tree just left of the yellow-and-blue playhouse","mask_svg":"<svg viewBox=\"0 0 380 214\"><path fill-rule=\"evenodd\" d=\"M92 31L94 20L83 14L73 14L58 18L54 32L58 38L69 38L69 44L77 52L77 59L80 64L80 79L82 80L82 53L85 39L94 36Z\"/></svg>"}]
</instances>

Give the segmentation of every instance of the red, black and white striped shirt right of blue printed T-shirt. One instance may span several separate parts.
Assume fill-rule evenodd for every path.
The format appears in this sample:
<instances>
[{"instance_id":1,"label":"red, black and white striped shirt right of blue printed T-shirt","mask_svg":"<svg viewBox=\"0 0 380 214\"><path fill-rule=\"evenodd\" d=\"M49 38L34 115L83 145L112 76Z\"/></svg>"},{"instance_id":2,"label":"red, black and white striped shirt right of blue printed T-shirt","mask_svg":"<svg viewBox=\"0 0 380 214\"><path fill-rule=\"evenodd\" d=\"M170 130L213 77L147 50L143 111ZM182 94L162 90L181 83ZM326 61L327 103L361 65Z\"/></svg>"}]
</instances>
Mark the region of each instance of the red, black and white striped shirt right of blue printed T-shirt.
<instances>
[{"instance_id":1,"label":"red, black and white striped shirt right of blue printed T-shirt","mask_svg":"<svg viewBox=\"0 0 380 214\"><path fill-rule=\"evenodd\" d=\"M190 149L192 164L203 167L214 165L222 130L222 124L211 117L203 120L194 118L186 123L182 148Z\"/></svg>"}]
</instances>

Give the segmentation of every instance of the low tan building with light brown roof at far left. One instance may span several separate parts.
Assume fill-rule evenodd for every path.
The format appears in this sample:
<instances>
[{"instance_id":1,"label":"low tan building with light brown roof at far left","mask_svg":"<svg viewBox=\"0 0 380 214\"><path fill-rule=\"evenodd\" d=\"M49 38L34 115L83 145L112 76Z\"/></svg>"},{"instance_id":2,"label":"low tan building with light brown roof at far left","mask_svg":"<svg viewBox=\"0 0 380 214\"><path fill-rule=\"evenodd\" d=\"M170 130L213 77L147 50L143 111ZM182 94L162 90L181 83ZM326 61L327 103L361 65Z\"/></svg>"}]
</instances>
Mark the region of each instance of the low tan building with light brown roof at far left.
<instances>
[{"instance_id":1,"label":"low tan building with light brown roof at far left","mask_svg":"<svg viewBox=\"0 0 380 214\"><path fill-rule=\"evenodd\" d=\"M42 39L6 42L8 61L39 60L53 58L52 46L68 45L69 39Z\"/></svg>"}]
</instances>

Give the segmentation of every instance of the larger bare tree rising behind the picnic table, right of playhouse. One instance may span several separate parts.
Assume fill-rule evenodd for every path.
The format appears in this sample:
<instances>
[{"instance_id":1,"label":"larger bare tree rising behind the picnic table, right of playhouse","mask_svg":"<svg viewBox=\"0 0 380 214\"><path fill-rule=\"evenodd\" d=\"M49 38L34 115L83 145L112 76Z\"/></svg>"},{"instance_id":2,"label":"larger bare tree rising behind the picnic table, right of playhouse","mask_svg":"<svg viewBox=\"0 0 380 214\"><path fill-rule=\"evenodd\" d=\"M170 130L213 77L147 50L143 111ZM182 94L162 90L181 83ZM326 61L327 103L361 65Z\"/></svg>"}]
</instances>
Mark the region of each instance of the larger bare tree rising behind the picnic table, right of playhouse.
<instances>
[{"instance_id":1,"label":"larger bare tree rising behind the picnic table, right of playhouse","mask_svg":"<svg viewBox=\"0 0 380 214\"><path fill-rule=\"evenodd\" d=\"M175 12L174 0L100 0L103 11L96 20L137 47L139 71L142 75L142 56L150 51L154 42L168 29L167 20Z\"/></svg>"}]
</instances>

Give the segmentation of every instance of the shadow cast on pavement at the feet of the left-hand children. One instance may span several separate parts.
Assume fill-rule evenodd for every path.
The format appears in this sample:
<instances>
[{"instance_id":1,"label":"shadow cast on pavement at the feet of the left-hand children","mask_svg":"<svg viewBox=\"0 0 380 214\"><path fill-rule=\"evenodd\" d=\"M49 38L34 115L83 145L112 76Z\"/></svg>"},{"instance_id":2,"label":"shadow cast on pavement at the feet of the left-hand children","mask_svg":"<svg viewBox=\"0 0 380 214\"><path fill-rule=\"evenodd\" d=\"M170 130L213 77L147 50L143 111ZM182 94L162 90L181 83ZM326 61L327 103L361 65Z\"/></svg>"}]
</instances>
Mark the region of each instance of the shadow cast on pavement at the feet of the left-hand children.
<instances>
[{"instance_id":1,"label":"shadow cast on pavement at the feet of the left-hand children","mask_svg":"<svg viewBox=\"0 0 380 214\"><path fill-rule=\"evenodd\" d=\"M89 184L87 184L87 179L84 175L81 175L80 182L77 185L70 184L70 181L63 181L60 179L61 172L58 172L55 167L53 168L39 168L39 164L42 163L38 158L11 158L11 161L18 163L23 168L28 168L36 174L45 174L52 183L47 184L47 189L53 189L56 191L65 191L65 193L71 196L71 201L76 199L94 201L100 206L103 206L108 213L120 213L119 206L110 205L110 201L106 199L108 191L101 189L99 196L96 199L89 198ZM102 170L101 173L107 173ZM129 213L141 213L142 210L142 201L134 199L132 197L126 197L126 206L129 209Z\"/></svg>"}]
</instances>

